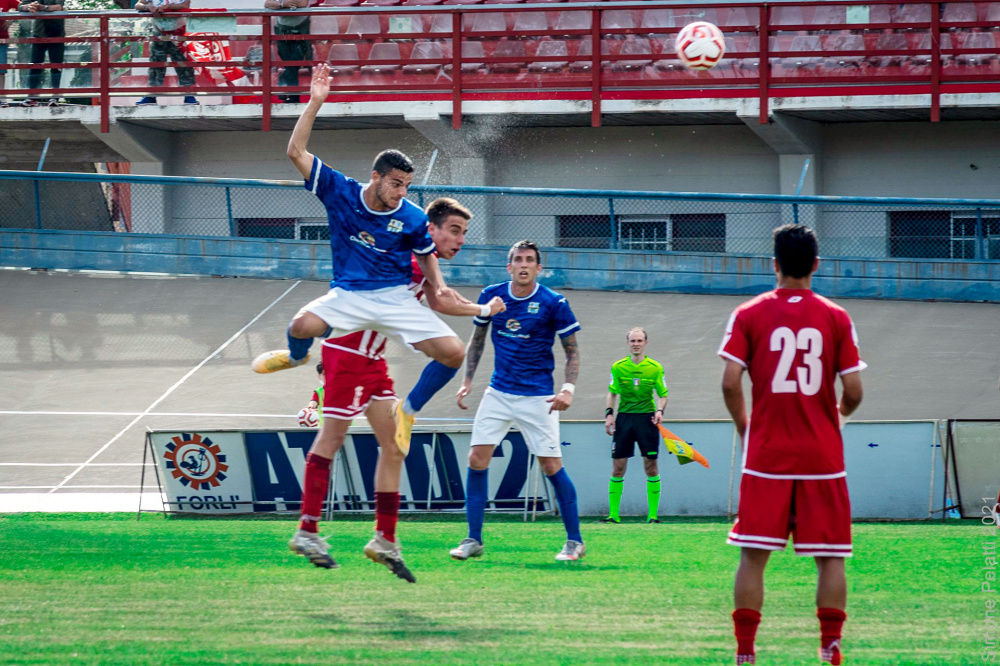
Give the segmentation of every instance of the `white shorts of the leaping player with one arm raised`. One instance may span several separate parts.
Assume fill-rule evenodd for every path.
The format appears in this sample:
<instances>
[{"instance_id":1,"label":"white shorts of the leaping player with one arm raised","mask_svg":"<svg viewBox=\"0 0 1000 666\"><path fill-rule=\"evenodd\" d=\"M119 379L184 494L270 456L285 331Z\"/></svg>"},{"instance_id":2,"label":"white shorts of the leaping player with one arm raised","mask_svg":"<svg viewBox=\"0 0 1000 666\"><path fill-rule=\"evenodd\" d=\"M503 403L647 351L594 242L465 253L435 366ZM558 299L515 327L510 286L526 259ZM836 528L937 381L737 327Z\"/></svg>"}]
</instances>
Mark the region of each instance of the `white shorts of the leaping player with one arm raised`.
<instances>
[{"instance_id":1,"label":"white shorts of the leaping player with one arm raised","mask_svg":"<svg viewBox=\"0 0 1000 666\"><path fill-rule=\"evenodd\" d=\"M415 345L432 338L457 337L448 324L413 297L407 285L374 291L334 287L303 308L333 328L331 337L375 330Z\"/></svg>"}]
</instances>

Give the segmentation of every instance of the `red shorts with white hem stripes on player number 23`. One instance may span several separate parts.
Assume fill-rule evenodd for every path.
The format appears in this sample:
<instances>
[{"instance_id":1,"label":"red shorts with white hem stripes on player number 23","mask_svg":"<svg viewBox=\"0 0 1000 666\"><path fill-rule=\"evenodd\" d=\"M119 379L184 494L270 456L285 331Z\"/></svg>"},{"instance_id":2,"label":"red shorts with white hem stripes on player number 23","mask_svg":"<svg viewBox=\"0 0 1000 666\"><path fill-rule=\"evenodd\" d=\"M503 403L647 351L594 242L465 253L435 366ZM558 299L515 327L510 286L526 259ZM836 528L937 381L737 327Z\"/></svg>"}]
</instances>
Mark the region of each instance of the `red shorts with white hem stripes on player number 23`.
<instances>
[{"instance_id":1,"label":"red shorts with white hem stripes on player number 23","mask_svg":"<svg viewBox=\"0 0 1000 666\"><path fill-rule=\"evenodd\" d=\"M767 479L743 474L740 508L726 543L795 554L851 556L851 501L847 479Z\"/></svg>"}]
</instances>

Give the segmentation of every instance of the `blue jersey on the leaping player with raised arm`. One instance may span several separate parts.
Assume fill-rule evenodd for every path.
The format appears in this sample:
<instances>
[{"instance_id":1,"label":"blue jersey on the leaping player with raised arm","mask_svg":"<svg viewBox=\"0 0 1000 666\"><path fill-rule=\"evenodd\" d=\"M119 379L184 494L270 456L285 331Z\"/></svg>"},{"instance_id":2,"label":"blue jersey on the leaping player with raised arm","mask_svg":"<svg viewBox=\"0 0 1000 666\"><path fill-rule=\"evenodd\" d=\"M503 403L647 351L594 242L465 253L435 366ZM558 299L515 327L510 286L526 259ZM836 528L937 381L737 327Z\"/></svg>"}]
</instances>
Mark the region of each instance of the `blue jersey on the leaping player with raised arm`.
<instances>
[{"instance_id":1,"label":"blue jersey on the leaping player with raised arm","mask_svg":"<svg viewBox=\"0 0 1000 666\"><path fill-rule=\"evenodd\" d=\"M361 183L318 157L313 157L306 189L323 202L330 222L331 288L371 291L409 284L410 253L434 251L427 215L406 199L395 210L373 211L362 197Z\"/></svg>"}]
</instances>

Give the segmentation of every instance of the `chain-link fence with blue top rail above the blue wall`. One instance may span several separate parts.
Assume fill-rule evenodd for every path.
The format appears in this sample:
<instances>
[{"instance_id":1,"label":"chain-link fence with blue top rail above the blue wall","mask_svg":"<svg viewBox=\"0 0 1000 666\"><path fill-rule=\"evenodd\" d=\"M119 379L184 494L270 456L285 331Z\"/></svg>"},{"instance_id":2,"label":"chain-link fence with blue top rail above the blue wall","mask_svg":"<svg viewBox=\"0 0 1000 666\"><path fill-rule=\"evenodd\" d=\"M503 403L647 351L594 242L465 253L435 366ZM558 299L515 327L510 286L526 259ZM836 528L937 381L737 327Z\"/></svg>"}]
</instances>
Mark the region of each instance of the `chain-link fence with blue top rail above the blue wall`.
<instances>
[{"instance_id":1,"label":"chain-link fence with blue top rail above the blue wall","mask_svg":"<svg viewBox=\"0 0 1000 666\"><path fill-rule=\"evenodd\" d=\"M324 241L301 181L0 171L0 228ZM826 257L1000 260L1000 199L412 186L475 217L469 244L769 255L771 230L816 229Z\"/></svg>"}]
</instances>

